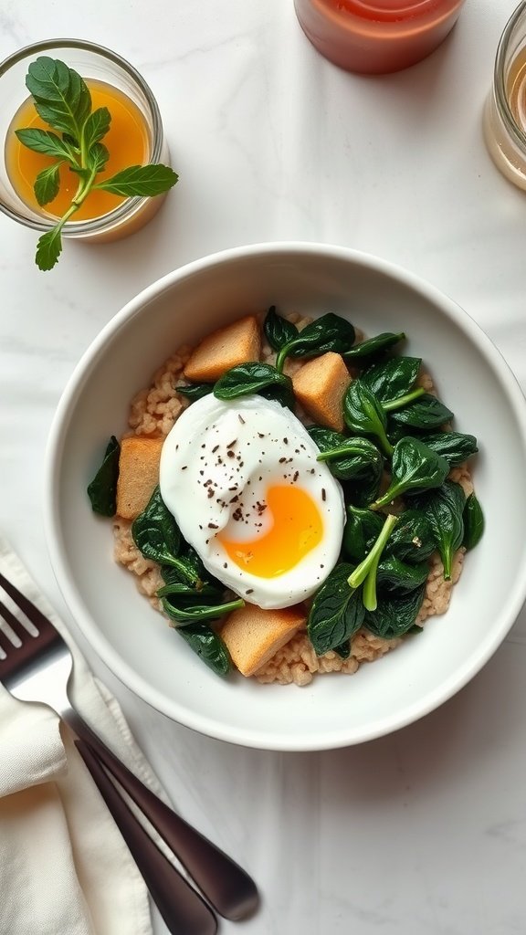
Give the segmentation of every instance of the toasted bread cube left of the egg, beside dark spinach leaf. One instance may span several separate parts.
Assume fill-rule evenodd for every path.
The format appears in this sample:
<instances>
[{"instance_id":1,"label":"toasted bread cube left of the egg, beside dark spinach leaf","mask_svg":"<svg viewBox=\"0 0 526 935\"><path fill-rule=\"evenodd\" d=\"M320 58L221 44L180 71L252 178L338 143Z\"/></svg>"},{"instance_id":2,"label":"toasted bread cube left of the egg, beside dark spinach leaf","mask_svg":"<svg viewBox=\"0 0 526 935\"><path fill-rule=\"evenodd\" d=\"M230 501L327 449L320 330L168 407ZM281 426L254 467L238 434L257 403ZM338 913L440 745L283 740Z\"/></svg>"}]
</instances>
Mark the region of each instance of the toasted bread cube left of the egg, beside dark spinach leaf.
<instances>
[{"instance_id":1,"label":"toasted bread cube left of the egg, beside dark spinach leaf","mask_svg":"<svg viewBox=\"0 0 526 935\"><path fill-rule=\"evenodd\" d=\"M159 482L159 461L164 438L130 436L121 441L117 515L134 520L142 512Z\"/></svg>"}]
</instances>

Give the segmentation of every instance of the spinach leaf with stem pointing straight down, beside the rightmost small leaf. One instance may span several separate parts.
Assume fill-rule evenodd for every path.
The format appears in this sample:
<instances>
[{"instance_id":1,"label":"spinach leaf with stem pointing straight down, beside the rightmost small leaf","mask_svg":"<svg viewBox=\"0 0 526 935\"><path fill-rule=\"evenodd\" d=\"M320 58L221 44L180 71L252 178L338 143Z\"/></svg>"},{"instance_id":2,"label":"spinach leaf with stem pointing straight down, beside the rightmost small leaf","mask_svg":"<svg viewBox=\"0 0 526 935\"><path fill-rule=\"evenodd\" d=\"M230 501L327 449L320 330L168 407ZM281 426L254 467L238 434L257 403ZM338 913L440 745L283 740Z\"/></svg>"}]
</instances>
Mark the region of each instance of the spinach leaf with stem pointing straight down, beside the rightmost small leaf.
<instances>
[{"instance_id":1,"label":"spinach leaf with stem pointing straight down, beside the rightmost small leaf","mask_svg":"<svg viewBox=\"0 0 526 935\"><path fill-rule=\"evenodd\" d=\"M449 581L453 555L464 538L464 492L459 483L446 481L436 490L417 494L415 502L417 509L426 513L444 565L444 577Z\"/></svg>"}]
</instances>

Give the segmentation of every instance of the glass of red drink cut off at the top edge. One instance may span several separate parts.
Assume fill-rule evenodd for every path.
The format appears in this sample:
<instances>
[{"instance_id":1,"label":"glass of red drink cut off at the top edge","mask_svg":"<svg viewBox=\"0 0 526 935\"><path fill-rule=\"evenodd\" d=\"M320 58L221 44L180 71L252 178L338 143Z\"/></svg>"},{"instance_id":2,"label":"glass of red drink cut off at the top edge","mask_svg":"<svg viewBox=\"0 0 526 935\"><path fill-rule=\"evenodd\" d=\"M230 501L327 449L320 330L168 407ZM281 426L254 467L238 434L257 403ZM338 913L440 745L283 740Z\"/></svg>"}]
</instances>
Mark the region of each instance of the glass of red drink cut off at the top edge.
<instances>
[{"instance_id":1,"label":"glass of red drink cut off at the top edge","mask_svg":"<svg viewBox=\"0 0 526 935\"><path fill-rule=\"evenodd\" d=\"M444 41L465 0L294 0L305 35L347 71L415 65Z\"/></svg>"}]
</instances>

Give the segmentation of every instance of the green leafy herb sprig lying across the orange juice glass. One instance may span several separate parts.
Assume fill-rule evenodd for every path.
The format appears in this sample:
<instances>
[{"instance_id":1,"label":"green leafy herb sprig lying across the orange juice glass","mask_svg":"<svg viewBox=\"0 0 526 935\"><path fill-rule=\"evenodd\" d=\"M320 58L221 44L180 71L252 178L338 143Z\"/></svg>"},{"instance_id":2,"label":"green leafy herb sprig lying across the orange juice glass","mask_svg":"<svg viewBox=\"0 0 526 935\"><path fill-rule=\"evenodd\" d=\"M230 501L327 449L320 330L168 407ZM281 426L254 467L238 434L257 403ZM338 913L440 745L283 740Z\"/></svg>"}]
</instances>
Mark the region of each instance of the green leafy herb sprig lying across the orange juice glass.
<instances>
[{"instance_id":1,"label":"green leafy herb sprig lying across the orange juice glass","mask_svg":"<svg viewBox=\"0 0 526 935\"><path fill-rule=\"evenodd\" d=\"M151 197L168 192L179 177L168 165L130 165L110 179L96 181L110 158L109 151L101 143L110 129L109 109L93 110L92 96L84 79L64 62L47 55L41 55L29 65L25 85L33 96L38 116L51 130L24 128L15 133L22 146L56 159L37 175L34 184L37 203L43 207L56 198L60 191L61 165L69 165L79 177L68 209L54 227L38 239L37 266L47 270L55 266L62 252L64 225L90 192L102 189L124 197ZM57 132L51 132L53 130Z\"/></svg>"}]
</instances>

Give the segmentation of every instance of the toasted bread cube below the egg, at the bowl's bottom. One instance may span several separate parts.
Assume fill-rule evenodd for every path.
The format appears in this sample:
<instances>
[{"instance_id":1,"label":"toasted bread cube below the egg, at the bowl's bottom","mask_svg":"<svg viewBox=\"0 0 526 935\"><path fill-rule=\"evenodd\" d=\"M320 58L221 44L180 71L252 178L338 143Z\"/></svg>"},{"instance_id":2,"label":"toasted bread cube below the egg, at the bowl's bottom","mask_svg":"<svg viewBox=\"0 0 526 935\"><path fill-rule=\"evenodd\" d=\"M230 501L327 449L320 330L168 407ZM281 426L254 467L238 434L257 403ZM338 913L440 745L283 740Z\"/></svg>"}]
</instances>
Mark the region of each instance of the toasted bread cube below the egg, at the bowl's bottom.
<instances>
[{"instance_id":1,"label":"toasted bread cube below the egg, at the bowl's bottom","mask_svg":"<svg viewBox=\"0 0 526 935\"><path fill-rule=\"evenodd\" d=\"M245 604L228 615L220 634L236 668L249 676L285 646L306 619L302 604L281 611L262 611L254 604Z\"/></svg>"}]
</instances>

